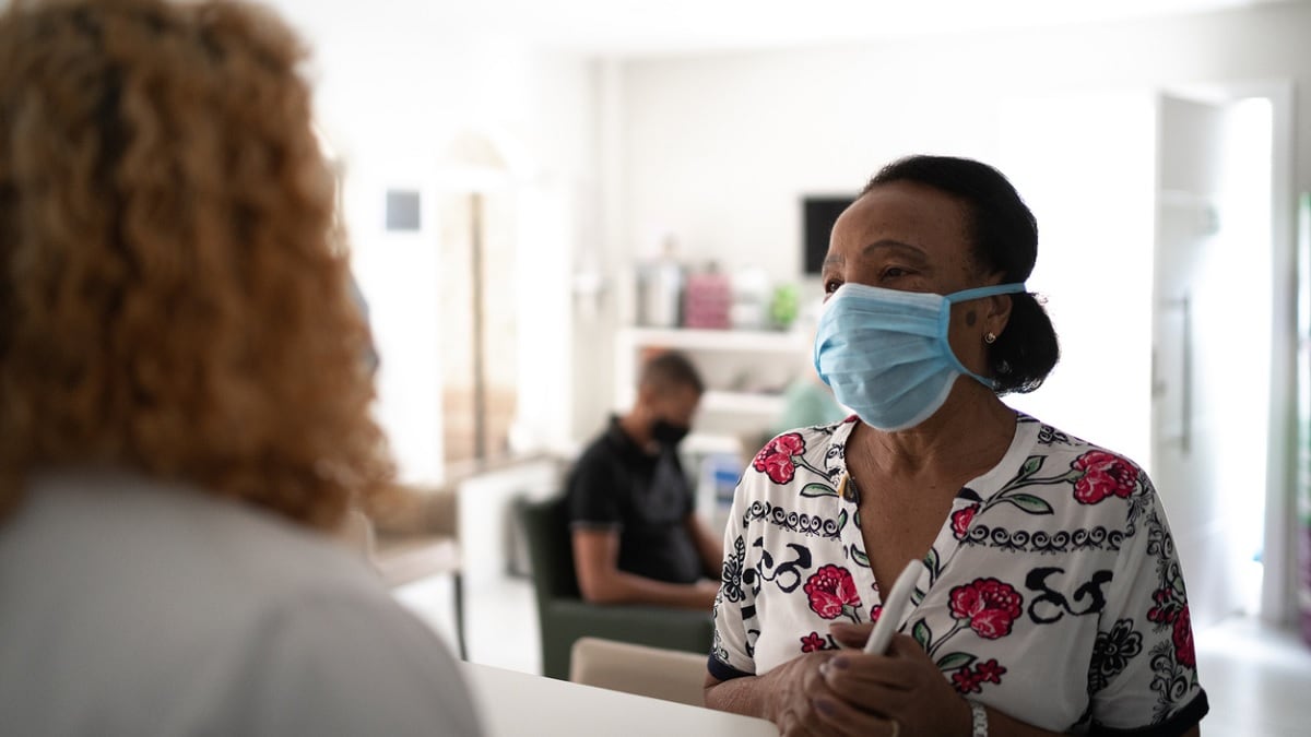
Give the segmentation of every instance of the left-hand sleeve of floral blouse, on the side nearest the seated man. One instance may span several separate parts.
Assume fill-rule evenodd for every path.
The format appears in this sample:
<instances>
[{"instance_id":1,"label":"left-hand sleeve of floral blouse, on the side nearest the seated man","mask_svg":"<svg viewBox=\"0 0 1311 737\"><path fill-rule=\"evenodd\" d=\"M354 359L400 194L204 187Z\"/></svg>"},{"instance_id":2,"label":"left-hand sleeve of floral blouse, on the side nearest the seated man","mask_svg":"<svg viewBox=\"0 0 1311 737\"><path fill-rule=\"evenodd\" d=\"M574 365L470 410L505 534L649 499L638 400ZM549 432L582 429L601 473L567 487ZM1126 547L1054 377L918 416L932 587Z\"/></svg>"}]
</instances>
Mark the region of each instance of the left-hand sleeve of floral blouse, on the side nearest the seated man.
<instances>
[{"instance_id":1,"label":"left-hand sleeve of floral blouse, on the side nearest the seated man","mask_svg":"<svg viewBox=\"0 0 1311 737\"><path fill-rule=\"evenodd\" d=\"M733 494L729 522L724 527L724 573L714 597L714 640L707 664L711 675L730 681L755 674L755 636L759 635L754 572L747 561L745 511L749 506L751 469L742 476Z\"/></svg>"}]
</instances>

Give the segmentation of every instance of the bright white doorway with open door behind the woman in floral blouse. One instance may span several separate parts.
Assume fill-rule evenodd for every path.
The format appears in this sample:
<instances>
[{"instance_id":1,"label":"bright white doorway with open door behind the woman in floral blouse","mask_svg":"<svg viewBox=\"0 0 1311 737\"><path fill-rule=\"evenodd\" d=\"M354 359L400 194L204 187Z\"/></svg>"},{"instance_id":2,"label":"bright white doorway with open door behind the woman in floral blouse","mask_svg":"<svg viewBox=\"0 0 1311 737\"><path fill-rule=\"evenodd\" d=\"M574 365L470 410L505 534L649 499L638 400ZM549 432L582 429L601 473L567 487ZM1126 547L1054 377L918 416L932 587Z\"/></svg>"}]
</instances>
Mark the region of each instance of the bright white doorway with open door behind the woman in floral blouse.
<instances>
[{"instance_id":1,"label":"bright white doorway with open door behind the woman in floral blouse","mask_svg":"<svg viewBox=\"0 0 1311 737\"><path fill-rule=\"evenodd\" d=\"M1029 286L1063 338L1008 401L1146 467L1198 626L1293 616L1291 152L1289 83L1002 108L999 163L1040 219Z\"/></svg>"}]
</instances>

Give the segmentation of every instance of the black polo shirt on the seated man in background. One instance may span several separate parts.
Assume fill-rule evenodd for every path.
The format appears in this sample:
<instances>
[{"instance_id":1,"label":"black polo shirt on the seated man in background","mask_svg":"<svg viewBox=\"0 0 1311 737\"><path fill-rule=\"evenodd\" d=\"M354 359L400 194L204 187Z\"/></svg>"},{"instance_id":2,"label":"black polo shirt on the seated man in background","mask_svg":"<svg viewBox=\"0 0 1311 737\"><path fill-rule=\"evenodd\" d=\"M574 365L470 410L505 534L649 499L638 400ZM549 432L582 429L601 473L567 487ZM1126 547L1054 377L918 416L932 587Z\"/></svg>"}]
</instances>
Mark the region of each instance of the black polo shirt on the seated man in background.
<instances>
[{"instance_id":1,"label":"black polo shirt on the seated man in background","mask_svg":"<svg viewBox=\"0 0 1311 737\"><path fill-rule=\"evenodd\" d=\"M673 584L703 576L687 530L692 489L675 448L646 452L610 418L569 473L572 527L619 530L619 569Z\"/></svg>"}]
</instances>

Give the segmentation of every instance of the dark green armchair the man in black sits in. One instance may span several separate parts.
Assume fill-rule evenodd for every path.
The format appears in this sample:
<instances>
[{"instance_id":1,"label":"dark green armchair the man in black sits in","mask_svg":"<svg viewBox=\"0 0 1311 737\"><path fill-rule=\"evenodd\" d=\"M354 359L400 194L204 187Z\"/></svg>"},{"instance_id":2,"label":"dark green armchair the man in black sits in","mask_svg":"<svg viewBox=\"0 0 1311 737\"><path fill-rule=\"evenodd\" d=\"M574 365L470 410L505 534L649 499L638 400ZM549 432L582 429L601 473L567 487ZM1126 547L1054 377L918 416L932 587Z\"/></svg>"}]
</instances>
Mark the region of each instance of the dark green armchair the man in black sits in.
<instances>
[{"instance_id":1,"label":"dark green armchair the man in black sits in","mask_svg":"<svg viewBox=\"0 0 1311 737\"><path fill-rule=\"evenodd\" d=\"M635 605L593 605L582 599L574 577L573 542L564 497L519 500L532 561L532 585L541 628L541 673L569 679L569 654L579 637L602 637L653 648L708 654L714 624L711 612Z\"/></svg>"}]
</instances>

